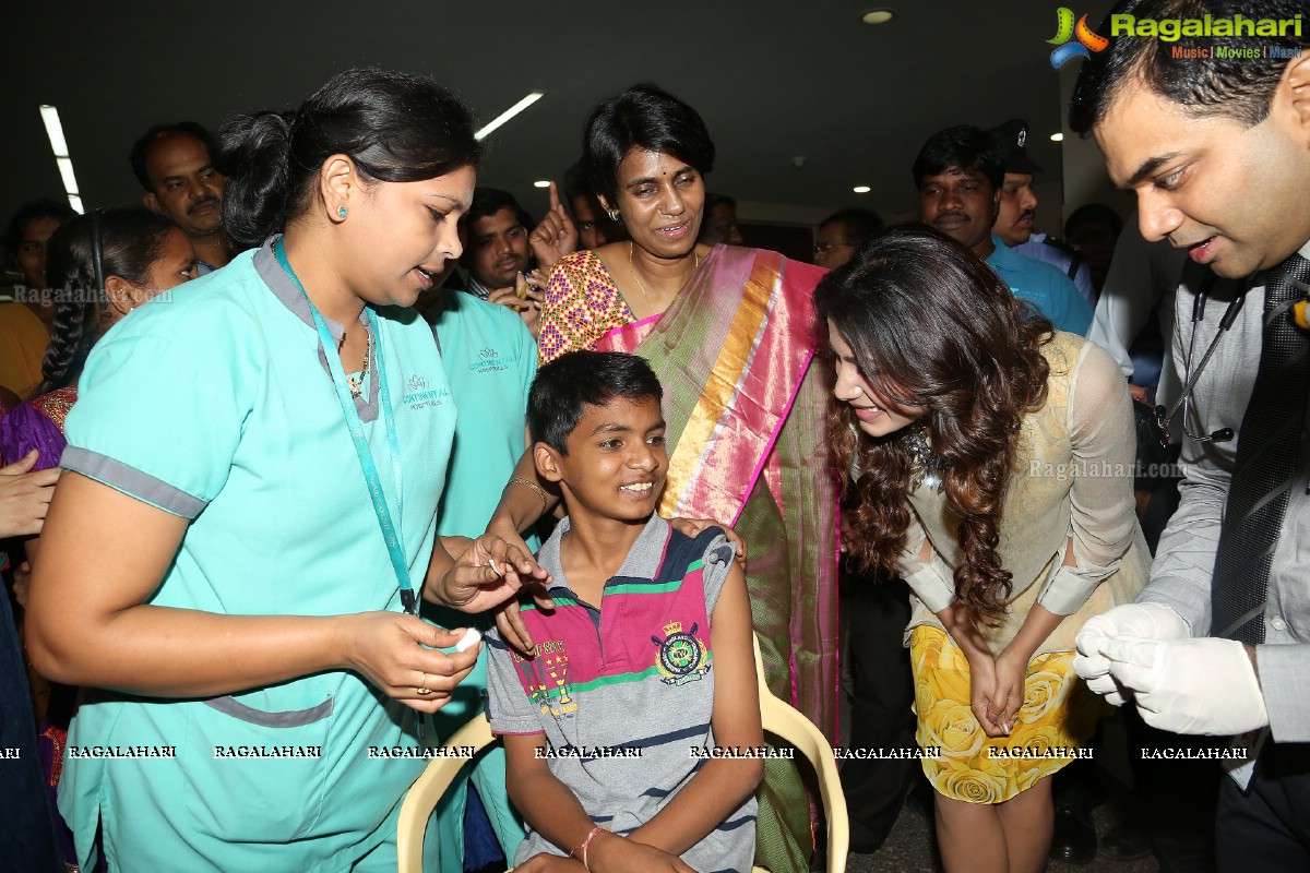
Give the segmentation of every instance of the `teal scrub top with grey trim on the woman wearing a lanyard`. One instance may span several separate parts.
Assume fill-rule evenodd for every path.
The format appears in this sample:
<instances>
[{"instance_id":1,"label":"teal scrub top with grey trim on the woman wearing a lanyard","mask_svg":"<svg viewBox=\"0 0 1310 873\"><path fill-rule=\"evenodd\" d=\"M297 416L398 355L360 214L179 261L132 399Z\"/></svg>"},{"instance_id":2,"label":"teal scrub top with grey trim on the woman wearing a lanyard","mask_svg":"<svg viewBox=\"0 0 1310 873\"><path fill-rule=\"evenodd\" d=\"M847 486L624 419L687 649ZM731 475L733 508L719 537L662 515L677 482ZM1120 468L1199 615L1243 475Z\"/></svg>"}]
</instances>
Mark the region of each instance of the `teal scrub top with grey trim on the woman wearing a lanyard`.
<instances>
[{"instance_id":1,"label":"teal scrub top with grey trim on the woman wearing a lanyard","mask_svg":"<svg viewBox=\"0 0 1310 873\"><path fill-rule=\"evenodd\" d=\"M376 314L369 370L386 369L402 500L379 380L355 403L418 592L456 407L427 325L409 309ZM308 304L269 246L110 330L67 436L62 466L191 520L149 603L229 615L401 610ZM111 868L346 870L393 836L388 817L424 763L369 758L369 747L415 746L413 732L411 709L347 671L210 700L97 691L69 747L157 745L176 757L69 757L60 809L83 859L102 821Z\"/></svg>"}]
</instances>

